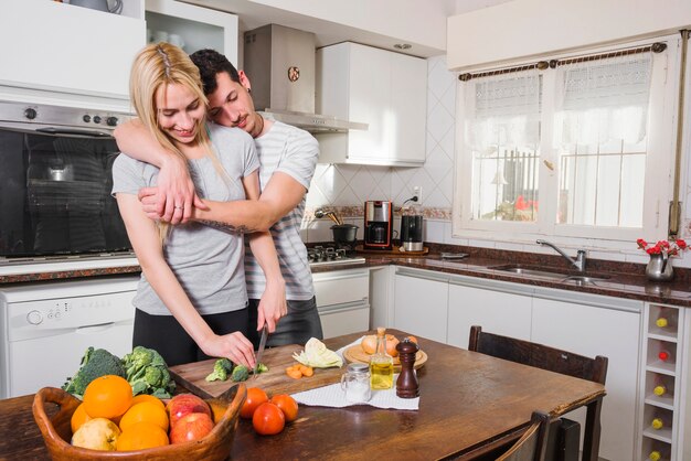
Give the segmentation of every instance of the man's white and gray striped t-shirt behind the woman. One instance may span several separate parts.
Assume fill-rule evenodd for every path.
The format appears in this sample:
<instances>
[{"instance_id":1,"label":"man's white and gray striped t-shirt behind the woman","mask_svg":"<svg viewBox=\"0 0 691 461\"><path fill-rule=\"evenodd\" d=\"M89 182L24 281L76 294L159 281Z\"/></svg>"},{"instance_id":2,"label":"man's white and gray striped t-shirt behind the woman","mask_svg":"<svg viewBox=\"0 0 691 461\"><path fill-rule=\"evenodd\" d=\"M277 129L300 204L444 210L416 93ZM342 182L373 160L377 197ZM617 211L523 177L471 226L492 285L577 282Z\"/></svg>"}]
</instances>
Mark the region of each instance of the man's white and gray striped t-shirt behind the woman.
<instances>
[{"instance_id":1,"label":"man's white and gray striped t-shirt behind the woman","mask_svg":"<svg viewBox=\"0 0 691 461\"><path fill-rule=\"evenodd\" d=\"M259 157L259 185L266 187L276 172L290 178L309 189L315 174L319 144L307 131L274 121L272 128L263 136L255 138ZM305 197L293 211L285 215L270 232L278 253L278 264L286 281L286 299L305 301L315 296L312 275L309 270L307 248L300 238L300 225L305 213ZM245 277L249 299L261 299L266 287L264 272L252 255L245 242Z\"/></svg>"}]
</instances>

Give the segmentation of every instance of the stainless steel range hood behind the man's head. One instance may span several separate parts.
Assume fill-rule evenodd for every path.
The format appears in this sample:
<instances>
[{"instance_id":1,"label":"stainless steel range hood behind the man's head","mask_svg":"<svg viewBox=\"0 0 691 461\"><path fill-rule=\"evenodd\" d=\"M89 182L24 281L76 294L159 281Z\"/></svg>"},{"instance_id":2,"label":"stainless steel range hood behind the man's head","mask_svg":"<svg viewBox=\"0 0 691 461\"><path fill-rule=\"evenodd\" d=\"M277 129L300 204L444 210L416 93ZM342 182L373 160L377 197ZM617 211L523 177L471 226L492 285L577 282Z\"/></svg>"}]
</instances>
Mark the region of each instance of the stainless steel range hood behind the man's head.
<instances>
[{"instance_id":1,"label":"stainless steel range hood behind the man's head","mask_svg":"<svg viewBox=\"0 0 691 461\"><path fill-rule=\"evenodd\" d=\"M366 130L368 124L315 114L315 34L278 24L245 32L243 68L255 109L312 133Z\"/></svg>"}]
</instances>

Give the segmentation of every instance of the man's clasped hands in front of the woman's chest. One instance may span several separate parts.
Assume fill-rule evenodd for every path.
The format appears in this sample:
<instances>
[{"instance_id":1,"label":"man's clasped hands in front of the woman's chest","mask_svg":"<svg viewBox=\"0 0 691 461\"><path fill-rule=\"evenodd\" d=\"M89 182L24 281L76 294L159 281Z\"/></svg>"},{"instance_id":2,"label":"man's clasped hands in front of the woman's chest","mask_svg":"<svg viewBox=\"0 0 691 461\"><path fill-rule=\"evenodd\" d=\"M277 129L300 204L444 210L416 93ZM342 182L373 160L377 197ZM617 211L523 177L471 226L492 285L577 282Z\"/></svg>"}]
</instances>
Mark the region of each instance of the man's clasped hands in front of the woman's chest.
<instances>
[{"instance_id":1,"label":"man's clasped hands in front of the woman's chest","mask_svg":"<svg viewBox=\"0 0 691 461\"><path fill-rule=\"evenodd\" d=\"M167 156L158 173L158 187L139 191L139 201L150 219L170 224L187 223L192 206L209 210L196 195L188 165L178 156Z\"/></svg>"}]
</instances>

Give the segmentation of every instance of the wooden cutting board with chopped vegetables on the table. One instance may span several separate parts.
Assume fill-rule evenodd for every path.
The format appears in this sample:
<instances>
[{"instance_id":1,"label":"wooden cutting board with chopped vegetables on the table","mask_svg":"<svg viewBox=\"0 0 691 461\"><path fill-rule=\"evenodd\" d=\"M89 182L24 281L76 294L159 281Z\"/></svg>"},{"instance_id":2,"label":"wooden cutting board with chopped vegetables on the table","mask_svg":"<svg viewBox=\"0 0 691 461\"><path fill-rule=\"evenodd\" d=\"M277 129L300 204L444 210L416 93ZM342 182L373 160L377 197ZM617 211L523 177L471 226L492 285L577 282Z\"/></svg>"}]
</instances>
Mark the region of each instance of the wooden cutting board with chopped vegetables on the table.
<instances>
[{"instance_id":1,"label":"wooden cutting board with chopped vegetables on the table","mask_svg":"<svg viewBox=\"0 0 691 461\"><path fill-rule=\"evenodd\" d=\"M288 344L279 347L272 347L264 351L262 362L268 366L268 372L259 374L256 378L249 375L245 382L247 387L261 387L269 394L295 394L309 390L329 384L339 383L346 367L315 368L313 376L294 379L286 374L288 366L298 362L293 358L294 352L300 352L304 347L298 344ZM208 383L204 378L213 371L214 358L208 361L188 363L171 366L170 374L176 383L185 387L192 394L202 398L214 398L235 385L230 378L225 382L214 380Z\"/></svg>"}]
</instances>

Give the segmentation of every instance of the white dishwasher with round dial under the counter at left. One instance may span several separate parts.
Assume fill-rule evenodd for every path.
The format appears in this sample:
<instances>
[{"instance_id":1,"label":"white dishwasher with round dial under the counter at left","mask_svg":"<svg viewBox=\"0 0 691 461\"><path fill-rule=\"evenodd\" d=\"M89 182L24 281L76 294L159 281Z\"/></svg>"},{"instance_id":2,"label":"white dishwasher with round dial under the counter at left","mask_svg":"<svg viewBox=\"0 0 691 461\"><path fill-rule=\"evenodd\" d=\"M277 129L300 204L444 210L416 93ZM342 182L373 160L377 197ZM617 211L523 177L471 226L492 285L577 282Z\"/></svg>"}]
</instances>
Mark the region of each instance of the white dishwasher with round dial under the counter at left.
<instances>
[{"instance_id":1,"label":"white dishwasher with round dial under the counter at left","mask_svg":"<svg viewBox=\"0 0 691 461\"><path fill-rule=\"evenodd\" d=\"M0 398L61 387L88 346L131 351L139 276L0 288Z\"/></svg>"}]
</instances>

